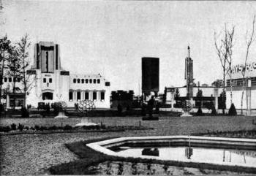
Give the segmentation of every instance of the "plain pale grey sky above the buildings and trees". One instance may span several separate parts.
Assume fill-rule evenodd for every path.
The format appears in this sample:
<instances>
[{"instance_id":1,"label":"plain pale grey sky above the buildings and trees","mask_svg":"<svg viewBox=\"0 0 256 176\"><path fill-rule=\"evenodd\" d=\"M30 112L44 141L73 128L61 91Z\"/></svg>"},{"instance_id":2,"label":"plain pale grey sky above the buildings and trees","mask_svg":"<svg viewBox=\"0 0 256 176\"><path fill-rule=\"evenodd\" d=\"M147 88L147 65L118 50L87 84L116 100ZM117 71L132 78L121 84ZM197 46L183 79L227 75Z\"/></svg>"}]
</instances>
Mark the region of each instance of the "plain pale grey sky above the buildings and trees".
<instances>
[{"instance_id":1,"label":"plain pale grey sky above the buildings and trees","mask_svg":"<svg viewBox=\"0 0 256 176\"><path fill-rule=\"evenodd\" d=\"M245 34L252 29L256 1L24 1L0 0L0 37L60 45L61 66L71 73L102 74L112 90L141 88L141 58L159 57L159 92L183 86L190 46L195 83L222 79L214 47L235 26L233 63L243 64ZM249 53L255 61L256 42Z\"/></svg>"}]
</instances>

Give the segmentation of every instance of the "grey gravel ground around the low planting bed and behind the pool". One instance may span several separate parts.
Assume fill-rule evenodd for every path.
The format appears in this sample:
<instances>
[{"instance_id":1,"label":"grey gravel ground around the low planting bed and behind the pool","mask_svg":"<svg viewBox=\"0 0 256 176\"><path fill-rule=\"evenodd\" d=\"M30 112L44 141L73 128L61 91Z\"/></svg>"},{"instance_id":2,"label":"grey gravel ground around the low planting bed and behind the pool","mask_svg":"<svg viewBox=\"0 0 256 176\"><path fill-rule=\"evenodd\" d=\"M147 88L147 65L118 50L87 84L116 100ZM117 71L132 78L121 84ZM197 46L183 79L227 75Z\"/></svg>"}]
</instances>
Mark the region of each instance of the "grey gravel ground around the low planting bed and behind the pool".
<instances>
[{"instance_id":1,"label":"grey gravel ground around the low planting bed and behind the pool","mask_svg":"<svg viewBox=\"0 0 256 176\"><path fill-rule=\"evenodd\" d=\"M65 143L102 137L148 136L192 134L207 131L238 131L255 129L253 117L160 117L159 121L141 121L140 117L91 118L93 122L107 126L141 125L154 130L121 131L108 133L63 133L63 134L19 134L1 136L1 175L35 175L56 164L78 159L70 152ZM80 118L2 118L0 125L23 123L25 126L75 125Z\"/></svg>"}]
</instances>

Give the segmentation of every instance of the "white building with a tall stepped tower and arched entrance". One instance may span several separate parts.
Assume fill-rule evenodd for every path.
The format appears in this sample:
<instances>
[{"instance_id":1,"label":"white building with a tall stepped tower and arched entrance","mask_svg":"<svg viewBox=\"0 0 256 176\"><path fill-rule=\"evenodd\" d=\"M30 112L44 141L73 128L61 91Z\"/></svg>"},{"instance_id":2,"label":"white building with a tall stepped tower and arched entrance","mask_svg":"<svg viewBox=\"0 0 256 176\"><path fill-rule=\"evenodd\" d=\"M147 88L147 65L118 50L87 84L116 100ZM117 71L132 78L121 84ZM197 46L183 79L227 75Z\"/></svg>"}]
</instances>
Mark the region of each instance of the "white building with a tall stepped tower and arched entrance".
<instances>
[{"instance_id":1,"label":"white building with a tall stepped tower and arched entrance","mask_svg":"<svg viewBox=\"0 0 256 176\"><path fill-rule=\"evenodd\" d=\"M68 107L74 107L80 100L92 100L96 108L110 108L110 82L101 74L69 74L61 67L59 53L59 45L53 42L34 45L34 65L27 72L32 85L26 104L37 107L39 102L64 101ZM8 79L4 77L3 86L11 82Z\"/></svg>"}]
</instances>

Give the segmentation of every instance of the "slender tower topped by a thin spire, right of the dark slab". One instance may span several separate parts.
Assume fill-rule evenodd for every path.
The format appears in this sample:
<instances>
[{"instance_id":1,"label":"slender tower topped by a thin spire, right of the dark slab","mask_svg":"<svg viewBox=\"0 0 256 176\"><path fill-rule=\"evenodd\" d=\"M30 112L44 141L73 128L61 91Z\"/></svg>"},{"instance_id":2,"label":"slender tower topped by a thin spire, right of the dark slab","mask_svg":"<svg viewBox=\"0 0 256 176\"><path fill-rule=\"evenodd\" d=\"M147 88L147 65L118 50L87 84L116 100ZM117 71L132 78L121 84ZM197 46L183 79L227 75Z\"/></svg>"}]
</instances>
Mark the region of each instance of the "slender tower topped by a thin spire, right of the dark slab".
<instances>
[{"instance_id":1,"label":"slender tower topped by a thin spire, right of the dark slab","mask_svg":"<svg viewBox=\"0 0 256 176\"><path fill-rule=\"evenodd\" d=\"M187 80L187 99L193 99L193 60L190 58L190 47L187 47L188 57L185 58L185 80Z\"/></svg>"}]
</instances>

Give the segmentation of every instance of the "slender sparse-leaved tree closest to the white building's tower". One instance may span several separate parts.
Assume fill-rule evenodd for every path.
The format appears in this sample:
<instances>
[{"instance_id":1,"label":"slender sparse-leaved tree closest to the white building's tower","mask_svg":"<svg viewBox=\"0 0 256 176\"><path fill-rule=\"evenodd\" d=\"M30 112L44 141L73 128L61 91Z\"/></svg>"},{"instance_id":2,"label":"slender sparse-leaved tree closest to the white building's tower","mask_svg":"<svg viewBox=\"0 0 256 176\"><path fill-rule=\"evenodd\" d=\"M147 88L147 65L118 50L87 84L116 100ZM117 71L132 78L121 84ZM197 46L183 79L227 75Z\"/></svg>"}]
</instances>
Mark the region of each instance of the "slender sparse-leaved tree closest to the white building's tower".
<instances>
[{"instance_id":1,"label":"slender sparse-leaved tree closest to the white building's tower","mask_svg":"<svg viewBox=\"0 0 256 176\"><path fill-rule=\"evenodd\" d=\"M26 107L26 94L30 91L32 83L34 83L33 74L26 74L28 70L30 61L29 61L29 47L31 46L31 42L29 42L29 35L25 34L18 42L18 51L19 57L21 61L21 70L20 77L21 83L23 85L24 92L24 107Z\"/></svg>"}]
</instances>

